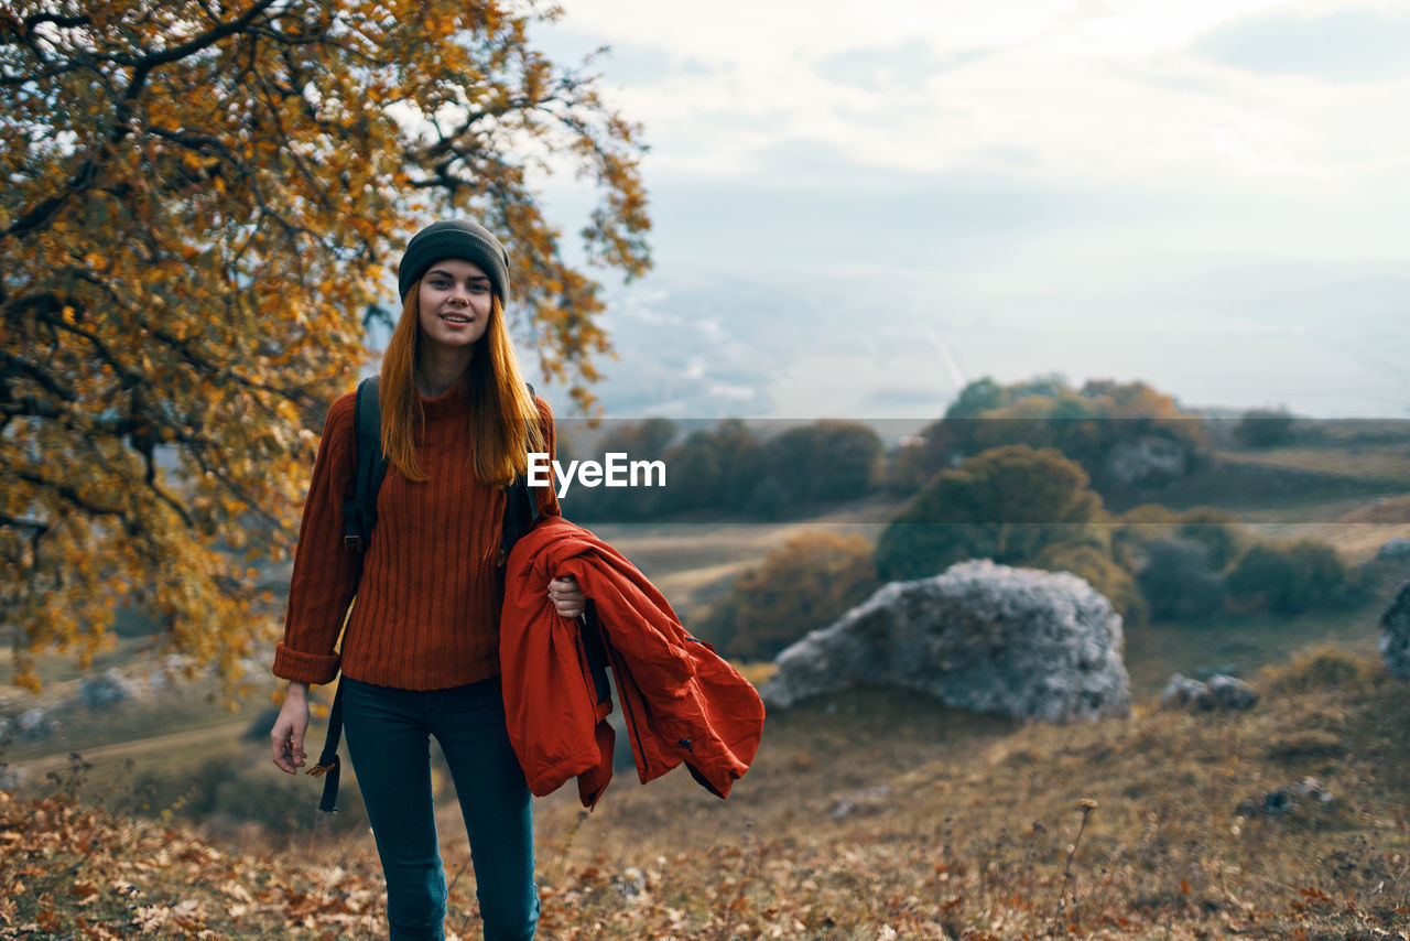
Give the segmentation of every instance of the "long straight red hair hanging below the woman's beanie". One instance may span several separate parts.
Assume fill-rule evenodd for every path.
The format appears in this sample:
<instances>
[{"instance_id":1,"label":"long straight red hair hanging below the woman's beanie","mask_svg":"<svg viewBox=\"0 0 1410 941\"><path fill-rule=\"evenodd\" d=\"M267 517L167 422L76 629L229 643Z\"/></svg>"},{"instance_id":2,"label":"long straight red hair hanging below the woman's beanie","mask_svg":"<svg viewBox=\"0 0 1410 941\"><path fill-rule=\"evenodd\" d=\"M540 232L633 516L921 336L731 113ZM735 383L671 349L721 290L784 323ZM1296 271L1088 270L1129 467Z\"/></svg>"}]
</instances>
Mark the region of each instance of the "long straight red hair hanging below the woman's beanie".
<instances>
[{"instance_id":1,"label":"long straight red hair hanging below the woman's beanie","mask_svg":"<svg viewBox=\"0 0 1410 941\"><path fill-rule=\"evenodd\" d=\"M382 403L382 453L392 467L410 481L430 480L416 459L416 436L426 423L416 385L420 368L420 282L402 302L402 317L382 356L379 380ZM468 433L474 443L475 478L485 484L508 484L529 467L529 451L543 451L544 433L539 406L525 387L519 358L505 327L505 308L494 296L485 336L475 343L468 367Z\"/></svg>"}]
</instances>

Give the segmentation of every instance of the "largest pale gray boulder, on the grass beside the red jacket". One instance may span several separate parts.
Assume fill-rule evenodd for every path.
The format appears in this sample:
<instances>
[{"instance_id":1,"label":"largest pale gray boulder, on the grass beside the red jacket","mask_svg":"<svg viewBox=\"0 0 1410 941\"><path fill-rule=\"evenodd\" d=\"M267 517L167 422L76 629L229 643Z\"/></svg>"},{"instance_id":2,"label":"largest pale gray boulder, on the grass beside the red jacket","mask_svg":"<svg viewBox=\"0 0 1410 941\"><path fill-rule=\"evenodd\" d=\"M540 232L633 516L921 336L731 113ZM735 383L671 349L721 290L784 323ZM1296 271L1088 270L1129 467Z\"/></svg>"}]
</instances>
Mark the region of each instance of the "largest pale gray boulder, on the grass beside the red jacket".
<instances>
[{"instance_id":1,"label":"largest pale gray boulder, on the grass beside the red jacket","mask_svg":"<svg viewBox=\"0 0 1410 941\"><path fill-rule=\"evenodd\" d=\"M767 704L900 686L956 708L1065 722L1131 712L1121 618L1066 571L962 561L888 584L778 655Z\"/></svg>"}]
</instances>

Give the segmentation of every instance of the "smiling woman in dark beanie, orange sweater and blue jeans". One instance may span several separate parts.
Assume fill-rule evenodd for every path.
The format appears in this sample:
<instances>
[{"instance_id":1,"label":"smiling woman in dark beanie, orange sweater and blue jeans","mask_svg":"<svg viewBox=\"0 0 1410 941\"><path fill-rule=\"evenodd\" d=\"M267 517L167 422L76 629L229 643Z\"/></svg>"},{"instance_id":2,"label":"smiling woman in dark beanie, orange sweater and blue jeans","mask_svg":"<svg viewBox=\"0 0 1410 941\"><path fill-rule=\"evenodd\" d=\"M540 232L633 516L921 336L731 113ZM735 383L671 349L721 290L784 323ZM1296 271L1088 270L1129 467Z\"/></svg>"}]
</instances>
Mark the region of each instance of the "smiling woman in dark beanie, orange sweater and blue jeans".
<instances>
[{"instance_id":1,"label":"smiling woman in dark beanie, orange sweater and blue jeans","mask_svg":"<svg viewBox=\"0 0 1410 941\"><path fill-rule=\"evenodd\" d=\"M527 451L553 451L553 413L520 378L503 315L509 257L488 230L467 220L423 229L398 286L402 316L379 378L389 467L376 526L362 559L344 549L355 478L348 394L329 411L299 530L274 662L289 680L274 762L290 775L305 765L309 684L341 669L348 755L386 876L391 937L444 937L434 735L470 834L485 937L532 938L533 817L505 731L498 554L505 484L525 471ZM534 492L541 514L558 514L551 487ZM550 583L550 597L565 618L585 605L565 578Z\"/></svg>"}]
</instances>

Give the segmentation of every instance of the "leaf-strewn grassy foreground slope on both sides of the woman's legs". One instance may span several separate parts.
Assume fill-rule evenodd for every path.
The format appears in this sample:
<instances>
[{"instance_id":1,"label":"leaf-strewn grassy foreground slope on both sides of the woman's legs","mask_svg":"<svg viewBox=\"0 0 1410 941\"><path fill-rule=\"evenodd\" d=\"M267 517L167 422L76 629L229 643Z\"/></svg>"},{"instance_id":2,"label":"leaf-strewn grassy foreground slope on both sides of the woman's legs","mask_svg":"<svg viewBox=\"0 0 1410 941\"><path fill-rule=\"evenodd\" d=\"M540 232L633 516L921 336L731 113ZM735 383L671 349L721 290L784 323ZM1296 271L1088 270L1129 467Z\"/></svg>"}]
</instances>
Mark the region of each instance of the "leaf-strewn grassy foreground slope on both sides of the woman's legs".
<instances>
[{"instance_id":1,"label":"leaf-strewn grassy foreground slope on both sides of the woman's legs","mask_svg":"<svg viewBox=\"0 0 1410 941\"><path fill-rule=\"evenodd\" d=\"M1062 728L880 691L778 712L729 801L682 772L585 818L540 801L541 937L1404 940L1410 687L1345 655L1259 686L1246 714ZM73 801L82 773L0 797L0 937L376 937L360 830L216 842ZM1307 777L1328 801L1262 813Z\"/></svg>"}]
</instances>

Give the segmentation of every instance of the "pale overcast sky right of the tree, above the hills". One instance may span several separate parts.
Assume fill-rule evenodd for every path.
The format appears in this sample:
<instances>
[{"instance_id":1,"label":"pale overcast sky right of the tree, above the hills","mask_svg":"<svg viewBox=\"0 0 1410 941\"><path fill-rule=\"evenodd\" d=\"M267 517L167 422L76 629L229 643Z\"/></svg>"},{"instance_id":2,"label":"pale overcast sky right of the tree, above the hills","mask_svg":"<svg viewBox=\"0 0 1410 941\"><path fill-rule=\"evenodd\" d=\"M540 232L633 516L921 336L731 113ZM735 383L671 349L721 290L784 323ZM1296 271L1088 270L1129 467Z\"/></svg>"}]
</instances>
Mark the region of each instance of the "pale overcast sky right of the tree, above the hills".
<instances>
[{"instance_id":1,"label":"pale overcast sky right of the tree, above the hills","mask_svg":"<svg viewBox=\"0 0 1410 941\"><path fill-rule=\"evenodd\" d=\"M933 418L970 380L1410 416L1410 0L565 0L651 147L611 415ZM589 196L546 188L571 231Z\"/></svg>"}]
</instances>

